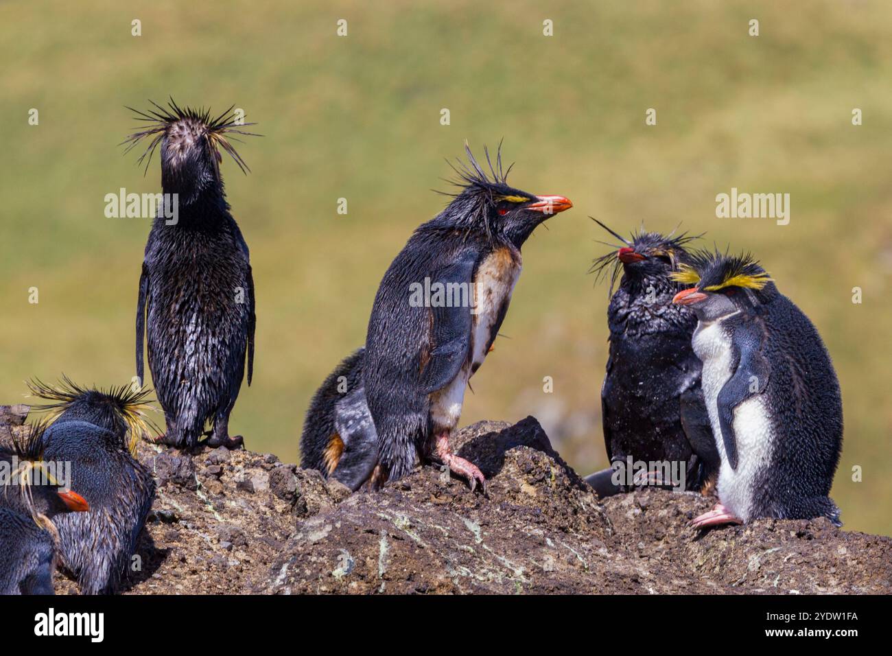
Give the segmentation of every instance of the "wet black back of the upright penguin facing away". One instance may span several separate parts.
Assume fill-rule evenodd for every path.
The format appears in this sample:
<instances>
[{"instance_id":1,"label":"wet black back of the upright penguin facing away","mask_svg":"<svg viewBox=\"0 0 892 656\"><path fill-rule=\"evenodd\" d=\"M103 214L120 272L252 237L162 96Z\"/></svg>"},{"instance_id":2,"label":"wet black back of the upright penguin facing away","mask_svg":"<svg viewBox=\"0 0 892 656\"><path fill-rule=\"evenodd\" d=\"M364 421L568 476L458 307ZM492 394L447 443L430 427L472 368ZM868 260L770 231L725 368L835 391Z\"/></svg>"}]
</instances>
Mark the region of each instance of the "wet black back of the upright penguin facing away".
<instances>
[{"instance_id":1,"label":"wet black back of the upright penguin facing away","mask_svg":"<svg viewBox=\"0 0 892 656\"><path fill-rule=\"evenodd\" d=\"M177 225L155 220L144 266L155 391L193 447L206 422L228 415L242 386L252 324L248 247L222 198L199 199L181 209Z\"/></svg>"}]
</instances>

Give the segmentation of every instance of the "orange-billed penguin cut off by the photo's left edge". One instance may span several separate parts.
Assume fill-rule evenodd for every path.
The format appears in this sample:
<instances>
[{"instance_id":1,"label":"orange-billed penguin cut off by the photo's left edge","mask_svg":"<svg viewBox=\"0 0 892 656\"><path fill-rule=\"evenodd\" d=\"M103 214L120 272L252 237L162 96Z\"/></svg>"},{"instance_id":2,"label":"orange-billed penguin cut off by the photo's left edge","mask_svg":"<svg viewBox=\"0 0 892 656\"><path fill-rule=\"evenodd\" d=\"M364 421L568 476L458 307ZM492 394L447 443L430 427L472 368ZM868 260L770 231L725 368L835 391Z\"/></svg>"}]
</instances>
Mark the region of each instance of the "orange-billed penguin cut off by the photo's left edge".
<instances>
[{"instance_id":1,"label":"orange-billed penguin cut off by the photo's left edge","mask_svg":"<svg viewBox=\"0 0 892 656\"><path fill-rule=\"evenodd\" d=\"M64 463L47 462L45 423L0 446L0 594L54 594L59 554L54 521L86 512L87 501L63 480Z\"/></svg>"}]
</instances>

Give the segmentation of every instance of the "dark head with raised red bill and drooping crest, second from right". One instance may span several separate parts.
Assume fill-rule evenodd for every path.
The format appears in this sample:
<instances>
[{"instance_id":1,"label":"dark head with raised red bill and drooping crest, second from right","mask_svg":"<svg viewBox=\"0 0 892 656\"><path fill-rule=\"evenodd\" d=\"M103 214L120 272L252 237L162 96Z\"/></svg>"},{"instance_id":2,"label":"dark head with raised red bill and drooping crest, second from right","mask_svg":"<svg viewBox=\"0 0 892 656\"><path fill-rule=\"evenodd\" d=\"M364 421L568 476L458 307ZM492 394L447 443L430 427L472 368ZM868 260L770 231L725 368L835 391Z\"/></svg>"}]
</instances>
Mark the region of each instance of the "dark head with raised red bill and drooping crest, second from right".
<instances>
[{"instance_id":1,"label":"dark head with raised red bill and drooping crest, second from right","mask_svg":"<svg viewBox=\"0 0 892 656\"><path fill-rule=\"evenodd\" d=\"M607 278L609 275L611 295L620 272L623 274L621 285L624 282L632 283L644 279L669 280L669 275L673 271L677 271L681 264L689 262L685 245L700 237L689 236L687 233L675 235L674 230L668 235L661 235L640 228L626 239L594 217L590 218L620 241L620 244L600 242L612 246L614 250L593 260L589 270L596 275L596 279Z\"/></svg>"}]
</instances>

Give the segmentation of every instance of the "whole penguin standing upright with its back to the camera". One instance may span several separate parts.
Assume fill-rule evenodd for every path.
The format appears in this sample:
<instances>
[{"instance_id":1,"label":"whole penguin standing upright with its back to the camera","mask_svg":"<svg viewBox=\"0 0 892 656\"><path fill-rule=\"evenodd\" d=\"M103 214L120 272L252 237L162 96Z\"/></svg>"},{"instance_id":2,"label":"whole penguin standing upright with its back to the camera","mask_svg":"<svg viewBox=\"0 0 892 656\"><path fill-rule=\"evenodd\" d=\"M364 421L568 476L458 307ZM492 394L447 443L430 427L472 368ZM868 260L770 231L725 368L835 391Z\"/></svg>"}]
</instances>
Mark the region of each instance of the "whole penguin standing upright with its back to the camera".
<instances>
[{"instance_id":1,"label":"whole penguin standing upright with its back to the camera","mask_svg":"<svg viewBox=\"0 0 892 656\"><path fill-rule=\"evenodd\" d=\"M170 205L159 209L145 245L136 303L136 375L143 381L143 336L149 369L164 410L167 431L160 440L194 450L206 443L234 449L229 414L244 378L251 385L254 361L254 281L248 245L229 213L219 164L220 149L246 172L227 135L245 132L232 108L217 118L210 111L169 107L136 112L149 122L130 135L128 151L148 139L140 162L161 146L161 188ZM176 199L176 204L172 199Z\"/></svg>"}]
</instances>

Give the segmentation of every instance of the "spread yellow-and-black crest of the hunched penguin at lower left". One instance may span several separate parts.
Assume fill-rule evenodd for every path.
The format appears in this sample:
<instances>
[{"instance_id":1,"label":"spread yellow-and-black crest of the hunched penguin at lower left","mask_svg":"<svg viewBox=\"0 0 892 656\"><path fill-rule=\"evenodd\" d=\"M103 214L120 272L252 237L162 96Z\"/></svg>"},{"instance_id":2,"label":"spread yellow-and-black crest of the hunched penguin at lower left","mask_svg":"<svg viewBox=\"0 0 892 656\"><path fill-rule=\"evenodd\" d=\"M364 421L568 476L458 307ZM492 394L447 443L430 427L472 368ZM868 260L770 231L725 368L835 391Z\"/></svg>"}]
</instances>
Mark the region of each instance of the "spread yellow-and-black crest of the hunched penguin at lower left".
<instances>
[{"instance_id":1,"label":"spread yellow-and-black crest of the hunched penguin at lower left","mask_svg":"<svg viewBox=\"0 0 892 656\"><path fill-rule=\"evenodd\" d=\"M106 426L112 418L120 419L127 428L127 445L131 455L136 456L136 443L139 439L151 441L153 431L161 433L147 414L149 411L158 411L149 398L152 390L136 386L135 382L107 389L84 387L62 374L62 379L54 386L47 385L38 378L29 380L27 385L31 396L49 402L33 407L38 411L46 411L50 422L75 407L81 411L79 419L92 421L99 426Z\"/></svg>"}]
</instances>

